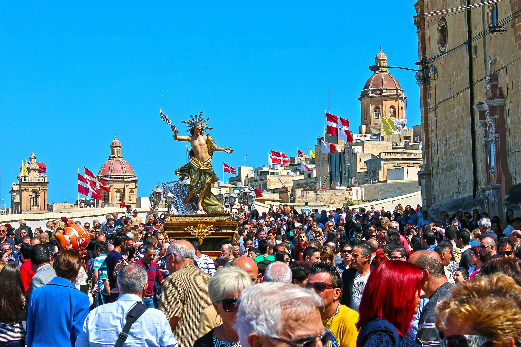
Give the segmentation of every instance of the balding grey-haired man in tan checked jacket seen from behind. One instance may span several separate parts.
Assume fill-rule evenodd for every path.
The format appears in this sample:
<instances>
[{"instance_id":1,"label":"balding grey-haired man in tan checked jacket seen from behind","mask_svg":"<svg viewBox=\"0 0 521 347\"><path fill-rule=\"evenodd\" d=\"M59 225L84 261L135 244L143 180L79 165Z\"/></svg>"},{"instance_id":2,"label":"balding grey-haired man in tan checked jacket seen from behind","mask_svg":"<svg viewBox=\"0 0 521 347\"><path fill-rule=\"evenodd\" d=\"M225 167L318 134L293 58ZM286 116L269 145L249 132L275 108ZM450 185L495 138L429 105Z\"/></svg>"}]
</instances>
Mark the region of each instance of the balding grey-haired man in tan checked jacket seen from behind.
<instances>
[{"instance_id":1,"label":"balding grey-haired man in tan checked jacket seen from behind","mask_svg":"<svg viewBox=\"0 0 521 347\"><path fill-rule=\"evenodd\" d=\"M194 329L200 323L201 312L212 304L208 282L212 276L194 264L192 244L177 240L168 246L165 263L169 276L163 282L163 294L158 309L166 315L179 347L192 347L199 338Z\"/></svg>"}]
</instances>

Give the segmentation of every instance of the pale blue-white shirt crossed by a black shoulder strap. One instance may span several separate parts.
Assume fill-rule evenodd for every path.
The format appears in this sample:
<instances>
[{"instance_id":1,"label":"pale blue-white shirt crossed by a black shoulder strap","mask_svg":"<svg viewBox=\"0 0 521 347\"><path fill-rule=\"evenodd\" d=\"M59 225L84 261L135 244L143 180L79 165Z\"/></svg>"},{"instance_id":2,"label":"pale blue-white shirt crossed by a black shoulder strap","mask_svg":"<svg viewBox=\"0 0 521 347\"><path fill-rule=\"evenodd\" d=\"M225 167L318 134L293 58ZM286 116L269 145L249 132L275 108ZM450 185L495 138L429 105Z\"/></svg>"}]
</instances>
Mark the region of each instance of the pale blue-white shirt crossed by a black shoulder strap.
<instances>
[{"instance_id":1,"label":"pale blue-white shirt crossed by a black shoulder strap","mask_svg":"<svg viewBox=\"0 0 521 347\"><path fill-rule=\"evenodd\" d=\"M118 301L96 307L85 319L83 330L76 340L76 347L113 347L125 326L127 313L140 301L138 295L121 294ZM177 340L173 337L172 329L163 312L147 309L132 324L125 347L137 346L177 346Z\"/></svg>"}]
</instances>

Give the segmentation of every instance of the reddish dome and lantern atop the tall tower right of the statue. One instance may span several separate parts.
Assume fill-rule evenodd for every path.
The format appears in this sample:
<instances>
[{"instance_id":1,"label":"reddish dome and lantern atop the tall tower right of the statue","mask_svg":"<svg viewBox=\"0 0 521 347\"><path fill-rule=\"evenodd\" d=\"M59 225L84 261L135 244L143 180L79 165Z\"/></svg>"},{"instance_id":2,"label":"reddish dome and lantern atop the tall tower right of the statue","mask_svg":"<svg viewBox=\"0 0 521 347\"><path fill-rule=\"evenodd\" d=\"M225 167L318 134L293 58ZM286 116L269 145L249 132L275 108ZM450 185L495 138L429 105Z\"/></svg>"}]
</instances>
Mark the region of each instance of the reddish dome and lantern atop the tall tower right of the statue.
<instances>
[{"instance_id":1,"label":"reddish dome and lantern atop the tall tower right of the statue","mask_svg":"<svg viewBox=\"0 0 521 347\"><path fill-rule=\"evenodd\" d=\"M365 82L360 97L365 98L384 95L403 97L403 89L400 83L391 75L389 69L387 69L387 56L382 52L381 47L380 53L375 57L375 65L379 66L380 69L375 71L367 82Z\"/></svg>"}]
</instances>

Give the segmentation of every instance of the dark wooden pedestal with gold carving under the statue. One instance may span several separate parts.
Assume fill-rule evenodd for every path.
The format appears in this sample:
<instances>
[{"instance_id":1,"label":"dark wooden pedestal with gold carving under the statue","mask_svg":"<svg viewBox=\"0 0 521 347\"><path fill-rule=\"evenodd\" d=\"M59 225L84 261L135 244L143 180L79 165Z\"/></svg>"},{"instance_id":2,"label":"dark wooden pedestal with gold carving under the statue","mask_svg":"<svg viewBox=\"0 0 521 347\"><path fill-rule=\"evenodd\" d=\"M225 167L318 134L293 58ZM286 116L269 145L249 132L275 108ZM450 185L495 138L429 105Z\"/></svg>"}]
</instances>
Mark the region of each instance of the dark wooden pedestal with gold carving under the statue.
<instances>
[{"instance_id":1,"label":"dark wooden pedestal with gold carving under the statue","mask_svg":"<svg viewBox=\"0 0 521 347\"><path fill-rule=\"evenodd\" d=\"M237 238L239 221L229 214L173 214L163 225L168 239L199 241L201 252L217 259L221 241Z\"/></svg>"}]
</instances>

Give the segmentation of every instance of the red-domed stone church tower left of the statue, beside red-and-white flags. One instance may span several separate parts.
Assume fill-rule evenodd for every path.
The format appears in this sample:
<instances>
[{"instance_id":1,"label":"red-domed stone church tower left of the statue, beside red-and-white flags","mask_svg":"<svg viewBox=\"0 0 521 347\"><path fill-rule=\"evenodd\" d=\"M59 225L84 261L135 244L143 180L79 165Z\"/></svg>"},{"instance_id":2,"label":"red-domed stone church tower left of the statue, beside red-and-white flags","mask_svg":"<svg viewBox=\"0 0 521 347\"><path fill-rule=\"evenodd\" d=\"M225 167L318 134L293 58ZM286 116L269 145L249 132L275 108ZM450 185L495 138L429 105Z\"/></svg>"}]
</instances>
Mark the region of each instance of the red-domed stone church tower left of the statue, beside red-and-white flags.
<instances>
[{"instance_id":1,"label":"red-domed stone church tower left of the statue, beside red-and-white flags","mask_svg":"<svg viewBox=\"0 0 521 347\"><path fill-rule=\"evenodd\" d=\"M110 156L101 165L97 177L110 186L110 192L100 190L104 204L132 204L138 196L138 177L132 166L121 155L121 143L114 136Z\"/></svg>"}]
</instances>

